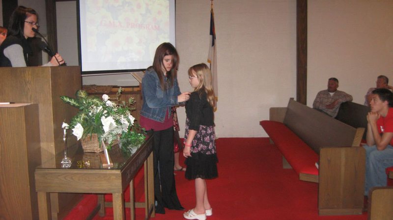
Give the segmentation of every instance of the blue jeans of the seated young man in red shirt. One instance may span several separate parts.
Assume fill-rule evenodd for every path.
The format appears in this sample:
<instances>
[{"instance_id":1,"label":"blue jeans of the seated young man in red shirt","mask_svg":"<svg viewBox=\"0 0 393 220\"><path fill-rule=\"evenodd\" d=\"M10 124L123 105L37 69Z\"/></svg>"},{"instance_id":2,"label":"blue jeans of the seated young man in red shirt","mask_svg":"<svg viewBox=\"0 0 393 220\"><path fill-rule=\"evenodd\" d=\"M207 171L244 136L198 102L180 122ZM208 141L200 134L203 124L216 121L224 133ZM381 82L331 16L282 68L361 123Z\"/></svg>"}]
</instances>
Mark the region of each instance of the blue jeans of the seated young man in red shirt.
<instances>
[{"instance_id":1,"label":"blue jeans of the seated young man in red shirt","mask_svg":"<svg viewBox=\"0 0 393 220\"><path fill-rule=\"evenodd\" d=\"M363 146L366 153L365 162L365 196L372 187L386 186L386 168L393 166L393 147L388 145L384 150L377 150L376 146Z\"/></svg>"}]
</instances>

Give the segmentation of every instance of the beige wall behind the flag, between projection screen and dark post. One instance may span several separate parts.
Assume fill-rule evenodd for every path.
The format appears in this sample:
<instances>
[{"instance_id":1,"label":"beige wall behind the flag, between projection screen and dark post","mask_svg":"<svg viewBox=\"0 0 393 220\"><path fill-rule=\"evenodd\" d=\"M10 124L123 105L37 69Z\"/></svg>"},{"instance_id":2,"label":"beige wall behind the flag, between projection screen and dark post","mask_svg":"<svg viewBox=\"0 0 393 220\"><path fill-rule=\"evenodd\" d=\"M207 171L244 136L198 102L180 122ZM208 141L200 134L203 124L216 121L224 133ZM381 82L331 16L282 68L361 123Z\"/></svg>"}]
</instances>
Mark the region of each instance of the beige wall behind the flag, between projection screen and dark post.
<instances>
[{"instance_id":1,"label":"beige wall behind the flag, between projection screen and dark post","mask_svg":"<svg viewBox=\"0 0 393 220\"><path fill-rule=\"evenodd\" d=\"M214 0L218 59L218 137L266 136L259 121L269 107L296 94L296 1ZM210 0L176 1L176 48L181 91L191 91L187 70L206 63ZM180 135L185 113L178 109Z\"/></svg>"}]
</instances>

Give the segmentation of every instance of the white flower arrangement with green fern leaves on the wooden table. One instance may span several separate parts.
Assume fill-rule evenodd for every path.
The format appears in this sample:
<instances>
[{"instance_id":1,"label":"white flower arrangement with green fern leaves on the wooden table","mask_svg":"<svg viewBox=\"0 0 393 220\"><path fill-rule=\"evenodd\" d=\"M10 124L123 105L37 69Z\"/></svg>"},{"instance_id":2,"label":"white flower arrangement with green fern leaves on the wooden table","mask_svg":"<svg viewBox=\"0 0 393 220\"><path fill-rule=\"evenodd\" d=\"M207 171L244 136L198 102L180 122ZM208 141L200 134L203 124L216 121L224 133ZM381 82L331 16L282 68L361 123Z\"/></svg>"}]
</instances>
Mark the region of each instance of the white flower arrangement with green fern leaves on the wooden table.
<instances>
[{"instance_id":1,"label":"white flower arrangement with green fern leaves on the wooden table","mask_svg":"<svg viewBox=\"0 0 393 220\"><path fill-rule=\"evenodd\" d=\"M89 138L88 135L97 134L98 142L104 142L108 149L112 147L113 141L118 140L123 143L123 150L127 151L128 146L140 146L145 139L145 132L140 128L130 111L130 105L135 103L134 98L130 98L128 103L120 101L120 87L116 98L113 100L104 94L102 100L89 96L86 91L76 92L76 98L61 96L61 100L78 108L80 111L75 115L70 124L63 123L63 128L72 129L72 134L81 138Z\"/></svg>"}]
</instances>

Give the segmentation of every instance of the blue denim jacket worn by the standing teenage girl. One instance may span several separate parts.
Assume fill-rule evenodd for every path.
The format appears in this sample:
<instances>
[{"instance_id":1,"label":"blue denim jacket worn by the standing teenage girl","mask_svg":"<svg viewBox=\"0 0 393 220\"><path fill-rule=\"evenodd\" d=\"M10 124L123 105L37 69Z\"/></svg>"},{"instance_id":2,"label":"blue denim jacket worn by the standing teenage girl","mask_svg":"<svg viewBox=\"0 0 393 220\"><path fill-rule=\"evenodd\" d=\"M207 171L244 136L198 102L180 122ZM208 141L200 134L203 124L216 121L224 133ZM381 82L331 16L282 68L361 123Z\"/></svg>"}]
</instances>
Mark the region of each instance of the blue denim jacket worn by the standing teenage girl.
<instances>
[{"instance_id":1,"label":"blue denim jacket worn by the standing teenage girl","mask_svg":"<svg viewBox=\"0 0 393 220\"><path fill-rule=\"evenodd\" d=\"M153 68L147 69L142 78L143 104L140 115L154 121L164 122L166 112L168 111L170 116L170 107L178 104L177 96L180 94L176 78L173 86L163 91L157 73Z\"/></svg>"}]
</instances>

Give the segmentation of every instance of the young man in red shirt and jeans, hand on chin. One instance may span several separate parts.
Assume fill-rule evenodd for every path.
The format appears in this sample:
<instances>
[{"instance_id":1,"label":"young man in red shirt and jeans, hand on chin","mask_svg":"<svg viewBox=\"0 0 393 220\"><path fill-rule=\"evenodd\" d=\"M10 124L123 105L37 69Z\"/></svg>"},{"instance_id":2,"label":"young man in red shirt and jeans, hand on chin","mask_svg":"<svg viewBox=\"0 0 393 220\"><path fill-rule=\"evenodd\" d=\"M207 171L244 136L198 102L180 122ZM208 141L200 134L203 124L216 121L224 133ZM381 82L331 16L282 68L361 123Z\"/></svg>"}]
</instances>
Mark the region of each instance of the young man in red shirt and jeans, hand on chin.
<instances>
[{"instance_id":1,"label":"young man in red shirt and jeans, hand on chin","mask_svg":"<svg viewBox=\"0 0 393 220\"><path fill-rule=\"evenodd\" d=\"M372 91L367 114L365 196L372 187L386 186L385 169L393 166L393 94L388 89Z\"/></svg>"}]
</instances>

